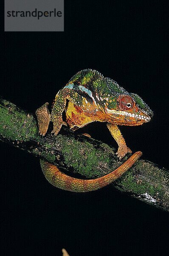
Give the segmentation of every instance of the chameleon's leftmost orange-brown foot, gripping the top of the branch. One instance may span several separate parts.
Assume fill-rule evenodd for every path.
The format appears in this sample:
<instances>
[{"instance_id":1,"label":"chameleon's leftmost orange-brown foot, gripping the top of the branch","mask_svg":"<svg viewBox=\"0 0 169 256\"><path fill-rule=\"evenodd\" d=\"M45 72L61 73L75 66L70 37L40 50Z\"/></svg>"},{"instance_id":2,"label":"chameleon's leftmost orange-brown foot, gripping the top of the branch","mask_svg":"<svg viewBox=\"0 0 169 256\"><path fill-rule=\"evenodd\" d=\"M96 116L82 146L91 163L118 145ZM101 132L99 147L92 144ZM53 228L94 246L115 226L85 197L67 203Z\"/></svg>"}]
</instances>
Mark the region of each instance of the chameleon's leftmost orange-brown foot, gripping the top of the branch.
<instances>
[{"instance_id":1,"label":"chameleon's leftmost orange-brown foot, gripping the top of the branch","mask_svg":"<svg viewBox=\"0 0 169 256\"><path fill-rule=\"evenodd\" d=\"M49 103L46 102L42 107L38 108L36 113L37 122L39 127L39 134L44 136L48 130L49 122L51 120L51 115L48 111Z\"/></svg>"}]
</instances>

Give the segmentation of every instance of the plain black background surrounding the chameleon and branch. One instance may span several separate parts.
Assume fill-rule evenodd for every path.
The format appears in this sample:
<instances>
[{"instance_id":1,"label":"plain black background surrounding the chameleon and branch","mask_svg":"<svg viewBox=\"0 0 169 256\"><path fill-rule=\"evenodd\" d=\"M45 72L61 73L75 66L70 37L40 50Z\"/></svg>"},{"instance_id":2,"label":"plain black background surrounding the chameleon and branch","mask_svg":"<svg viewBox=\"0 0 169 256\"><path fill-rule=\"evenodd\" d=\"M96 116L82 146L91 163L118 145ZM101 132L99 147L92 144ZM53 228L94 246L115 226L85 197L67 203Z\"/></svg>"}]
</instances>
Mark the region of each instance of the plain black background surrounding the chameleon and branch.
<instances>
[{"instance_id":1,"label":"plain black background surrounding the chameleon and branch","mask_svg":"<svg viewBox=\"0 0 169 256\"><path fill-rule=\"evenodd\" d=\"M79 70L96 69L154 111L121 127L132 151L167 167L167 6L163 1L65 1L65 32L5 32L2 95L34 113ZM85 128L117 148L104 123ZM51 186L39 160L0 143L1 255L166 255L166 212L107 186L90 193Z\"/></svg>"}]
</instances>

